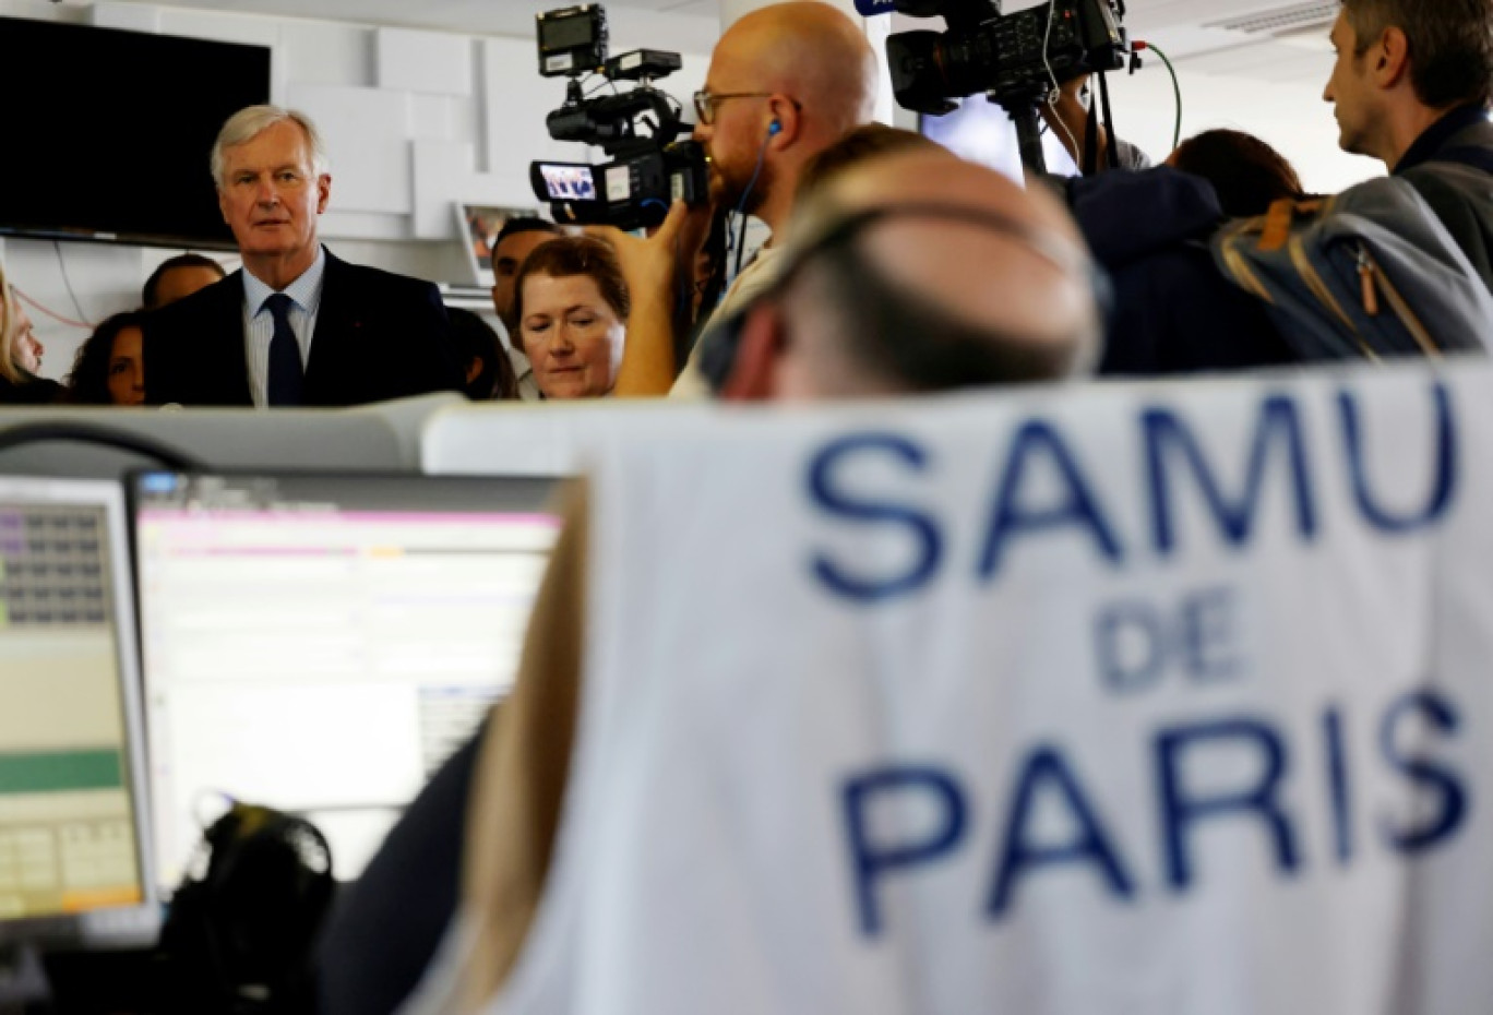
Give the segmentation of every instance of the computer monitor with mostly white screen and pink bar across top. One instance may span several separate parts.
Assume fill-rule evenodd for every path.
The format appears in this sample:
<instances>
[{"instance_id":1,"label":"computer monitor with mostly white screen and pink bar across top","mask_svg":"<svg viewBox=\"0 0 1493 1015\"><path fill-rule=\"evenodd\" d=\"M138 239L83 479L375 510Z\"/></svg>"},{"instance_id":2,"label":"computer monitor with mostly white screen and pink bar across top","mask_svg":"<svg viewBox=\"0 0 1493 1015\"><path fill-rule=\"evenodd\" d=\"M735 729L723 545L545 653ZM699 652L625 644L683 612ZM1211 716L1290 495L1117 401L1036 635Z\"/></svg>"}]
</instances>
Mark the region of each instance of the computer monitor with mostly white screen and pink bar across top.
<instances>
[{"instance_id":1,"label":"computer monitor with mostly white screen and pink bar across top","mask_svg":"<svg viewBox=\"0 0 1493 1015\"><path fill-rule=\"evenodd\" d=\"M554 481L133 476L158 866L225 797L311 819L355 878L511 687Z\"/></svg>"}]
</instances>

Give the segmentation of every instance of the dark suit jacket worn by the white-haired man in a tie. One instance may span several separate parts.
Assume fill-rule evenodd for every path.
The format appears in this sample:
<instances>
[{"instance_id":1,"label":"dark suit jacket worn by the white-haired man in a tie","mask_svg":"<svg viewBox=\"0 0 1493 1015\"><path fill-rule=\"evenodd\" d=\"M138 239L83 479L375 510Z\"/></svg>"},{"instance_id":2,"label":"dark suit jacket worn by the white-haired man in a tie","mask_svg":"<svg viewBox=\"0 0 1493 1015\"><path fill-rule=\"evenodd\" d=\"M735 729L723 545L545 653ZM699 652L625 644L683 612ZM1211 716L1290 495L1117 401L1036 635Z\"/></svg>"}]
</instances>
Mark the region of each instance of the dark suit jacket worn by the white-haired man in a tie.
<instances>
[{"instance_id":1,"label":"dark suit jacket worn by the white-haired man in a tie","mask_svg":"<svg viewBox=\"0 0 1493 1015\"><path fill-rule=\"evenodd\" d=\"M155 310L143 331L146 403L254 405L243 337L243 272ZM303 405L351 406L460 391L461 379L434 285L348 264L327 252Z\"/></svg>"}]
</instances>

